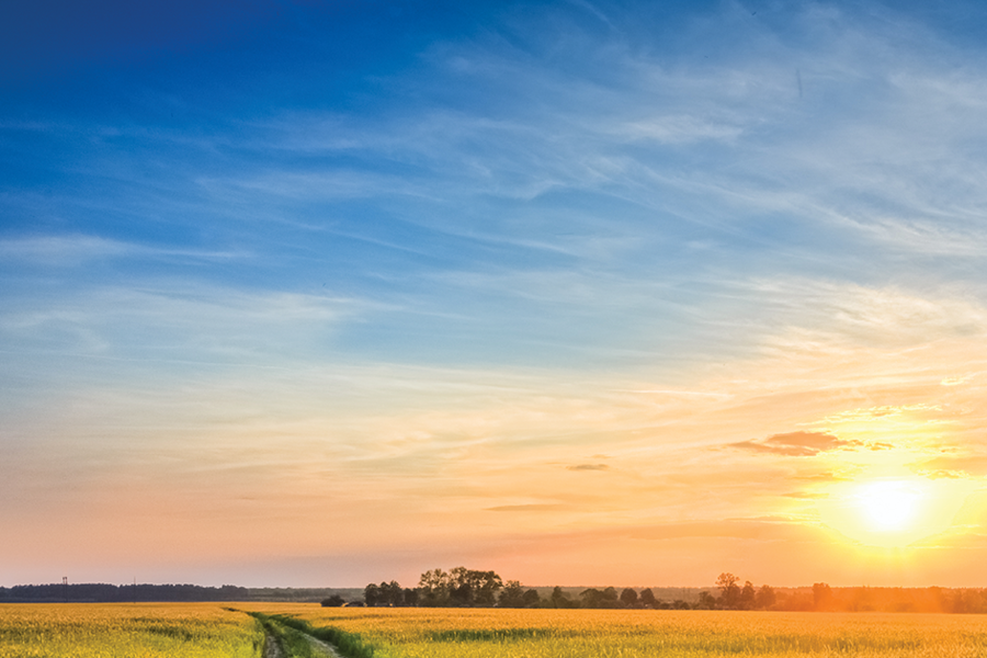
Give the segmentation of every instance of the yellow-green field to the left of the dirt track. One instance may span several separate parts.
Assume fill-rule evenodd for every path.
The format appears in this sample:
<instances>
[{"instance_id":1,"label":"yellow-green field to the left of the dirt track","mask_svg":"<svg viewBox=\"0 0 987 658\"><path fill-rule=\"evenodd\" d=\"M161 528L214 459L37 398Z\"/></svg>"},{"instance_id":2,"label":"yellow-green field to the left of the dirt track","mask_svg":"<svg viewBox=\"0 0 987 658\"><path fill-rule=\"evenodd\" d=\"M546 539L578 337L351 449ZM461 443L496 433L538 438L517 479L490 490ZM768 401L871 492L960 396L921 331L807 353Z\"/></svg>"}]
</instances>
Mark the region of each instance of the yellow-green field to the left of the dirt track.
<instances>
[{"instance_id":1,"label":"yellow-green field to the left of the dirt track","mask_svg":"<svg viewBox=\"0 0 987 658\"><path fill-rule=\"evenodd\" d=\"M251 658L263 637L217 603L0 604L0 658Z\"/></svg>"}]
</instances>

